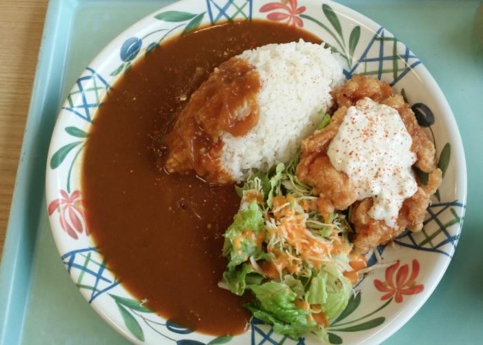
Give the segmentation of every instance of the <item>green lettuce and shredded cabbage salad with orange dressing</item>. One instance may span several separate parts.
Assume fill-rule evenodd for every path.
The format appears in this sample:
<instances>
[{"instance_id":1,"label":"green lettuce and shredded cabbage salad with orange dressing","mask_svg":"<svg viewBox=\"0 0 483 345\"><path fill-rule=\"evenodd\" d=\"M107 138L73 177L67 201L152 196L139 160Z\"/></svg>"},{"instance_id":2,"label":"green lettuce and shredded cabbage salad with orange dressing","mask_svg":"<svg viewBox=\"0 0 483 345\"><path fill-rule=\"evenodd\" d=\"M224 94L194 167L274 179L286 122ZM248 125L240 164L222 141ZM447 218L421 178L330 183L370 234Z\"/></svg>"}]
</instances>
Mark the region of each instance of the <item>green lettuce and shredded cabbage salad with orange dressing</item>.
<instances>
[{"instance_id":1,"label":"green lettuce and shredded cabbage salad with orange dressing","mask_svg":"<svg viewBox=\"0 0 483 345\"><path fill-rule=\"evenodd\" d=\"M345 215L324 219L317 197L289 164L268 173L252 172L233 224L224 234L228 265L220 286L236 295L247 290L253 316L291 338L314 333L327 341L331 320L344 311L353 293L344 272L351 271Z\"/></svg>"}]
</instances>

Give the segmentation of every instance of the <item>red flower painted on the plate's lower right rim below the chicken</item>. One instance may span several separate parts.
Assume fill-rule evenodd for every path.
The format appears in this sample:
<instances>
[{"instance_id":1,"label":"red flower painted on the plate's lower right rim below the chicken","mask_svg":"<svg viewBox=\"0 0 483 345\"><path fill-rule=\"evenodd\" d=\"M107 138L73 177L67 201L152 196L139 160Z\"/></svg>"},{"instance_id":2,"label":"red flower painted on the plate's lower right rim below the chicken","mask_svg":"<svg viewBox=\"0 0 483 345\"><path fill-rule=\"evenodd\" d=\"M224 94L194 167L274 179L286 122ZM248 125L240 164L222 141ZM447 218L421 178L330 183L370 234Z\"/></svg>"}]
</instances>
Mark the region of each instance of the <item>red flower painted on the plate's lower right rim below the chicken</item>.
<instances>
[{"instance_id":1,"label":"red flower painted on the plate's lower right rim below the chicken","mask_svg":"<svg viewBox=\"0 0 483 345\"><path fill-rule=\"evenodd\" d=\"M397 260L395 264L386 269L386 281L381 282L379 279L374 280L374 286L377 290L386 293L381 297L381 300L388 299L394 296L396 303L402 302L402 295L416 295L424 290L423 284L416 284L416 277L420 273L420 263L413 259L413 272L409 274L409 266L406 264L399 268L400 261ZM397 270L399 268L399 270ZM394 273L397 270L394 279Z\"/></svg>"}]
</instances>

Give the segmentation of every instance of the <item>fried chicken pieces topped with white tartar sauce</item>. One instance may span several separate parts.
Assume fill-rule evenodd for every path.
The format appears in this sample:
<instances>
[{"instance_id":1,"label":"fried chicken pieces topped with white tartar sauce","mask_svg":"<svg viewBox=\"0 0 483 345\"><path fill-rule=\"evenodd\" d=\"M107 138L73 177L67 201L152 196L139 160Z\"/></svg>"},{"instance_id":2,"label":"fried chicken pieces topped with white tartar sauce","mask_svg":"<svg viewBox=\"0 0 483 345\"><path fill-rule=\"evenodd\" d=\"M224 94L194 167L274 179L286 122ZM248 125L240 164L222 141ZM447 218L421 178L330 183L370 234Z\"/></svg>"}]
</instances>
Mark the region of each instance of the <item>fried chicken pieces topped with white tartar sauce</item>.
<instances>
[{"instance_id":1,"label":"fried chicken pieces topped with white tartar sauce","mask_svg":"<svg viewBox=\"0 0 483 345\"><path fill-rule=\"evenodd\" d=\"M302 142L297 176L321 197L322 214L351 206L355 251L367 253L406 228L422 229L442 172L413 111L384 81L356 75L335 101L331 124ZM413 165L429 174L428 184Z\"/></svg>"}]
</instances>

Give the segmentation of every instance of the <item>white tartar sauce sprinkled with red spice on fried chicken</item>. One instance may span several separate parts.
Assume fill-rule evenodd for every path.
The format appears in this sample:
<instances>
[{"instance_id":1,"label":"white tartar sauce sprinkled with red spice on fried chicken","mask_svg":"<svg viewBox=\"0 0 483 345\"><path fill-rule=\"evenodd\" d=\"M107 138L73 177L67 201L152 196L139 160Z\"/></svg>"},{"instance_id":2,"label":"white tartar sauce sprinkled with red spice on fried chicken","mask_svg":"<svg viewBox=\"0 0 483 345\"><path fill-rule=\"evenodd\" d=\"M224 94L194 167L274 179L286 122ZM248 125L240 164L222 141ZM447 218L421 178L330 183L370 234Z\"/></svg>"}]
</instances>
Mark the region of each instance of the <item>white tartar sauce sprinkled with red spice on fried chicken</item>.
<instances>
[{"instance_id":1,"label":"white tartar sauce sprinkled with red spice on fried chicken","mask_svg":"<svg viewBox=\"0 0 483 345\"><path fill-rule=\"evenodd\" d=\"M404 199L417 191L412 139L394 108L365 98L347 110L327 155L355 186L357 200L373 198L369 215L395 227Z\"/></svg>"}]
</instances>

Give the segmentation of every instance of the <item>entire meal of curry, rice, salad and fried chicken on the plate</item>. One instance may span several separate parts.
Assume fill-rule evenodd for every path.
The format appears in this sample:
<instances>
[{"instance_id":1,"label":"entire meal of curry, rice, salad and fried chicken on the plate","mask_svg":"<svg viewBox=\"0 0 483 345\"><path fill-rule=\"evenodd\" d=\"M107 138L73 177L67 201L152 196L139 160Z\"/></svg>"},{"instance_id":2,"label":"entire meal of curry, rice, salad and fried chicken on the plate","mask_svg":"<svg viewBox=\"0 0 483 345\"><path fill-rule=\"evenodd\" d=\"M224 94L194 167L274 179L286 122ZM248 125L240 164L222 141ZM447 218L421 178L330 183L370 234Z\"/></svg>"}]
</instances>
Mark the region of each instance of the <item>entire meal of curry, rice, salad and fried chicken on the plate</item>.
<instances>
[{"instance_id":1,"label":"entire meal of curry, rice, salad and fried chicken on the plate","mask_svg":"<svg viewBox=\"0 0 483 345\"><path fill-rule=\"evenodd\" d=\"M107 265L146 307L204 333L242 333L253 315L327 340L364 254L421 230L435 147L401 95L344 82L339 61L308 32L235 22L163 43L115 83L83 198Z\"/></svg>"}]
</instances>

